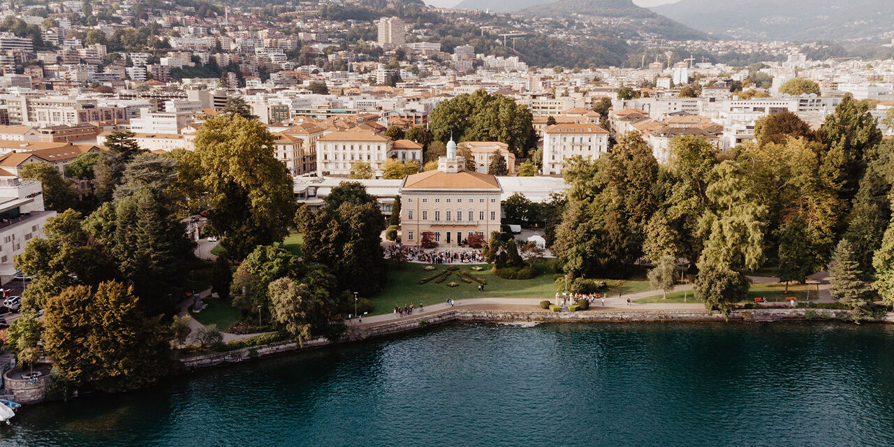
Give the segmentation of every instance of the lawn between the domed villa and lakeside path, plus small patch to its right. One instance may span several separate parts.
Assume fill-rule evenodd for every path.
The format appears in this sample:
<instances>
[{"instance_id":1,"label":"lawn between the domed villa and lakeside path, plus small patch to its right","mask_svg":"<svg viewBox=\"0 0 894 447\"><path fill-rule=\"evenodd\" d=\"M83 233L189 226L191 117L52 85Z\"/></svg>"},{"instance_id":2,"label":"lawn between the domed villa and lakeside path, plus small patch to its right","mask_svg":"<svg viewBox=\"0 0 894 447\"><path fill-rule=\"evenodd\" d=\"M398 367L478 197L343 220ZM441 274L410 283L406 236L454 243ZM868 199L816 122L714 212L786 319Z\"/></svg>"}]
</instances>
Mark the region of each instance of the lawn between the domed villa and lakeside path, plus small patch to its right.
<instances>
[{"instance_id":1,"label":"lawn between the domed villa and lakeside path, plus small patch to its right","mask_svg":"<svg viewBox=\"0 0 894 447\"><path fill-rule=\"evenodd\" d=\"M443 271L447 266L434 266L434 270L426 270L425 264L405 263L400 269L396 265L390 265L388 269L388 283L385 284L384 291L379 292L370 300L373 302L372 315L388 314L392 312L395 306L403 306L413 303L418 307L419 302L424 305L431 305L444 302L448 297L452 299L468 299L468 298L537 298L552 299L555 297L554 275L556 272L549 266L549 263L540 263L538 268L540 274L529 280L506 280L498 278L491 274L493 265L482 264L484 270L476 272L468 265L459 266L461 270L465 270L470 274L475 274L484 278L485 291L478 291L478 283L463 283L460 277L453 273L447 277L443 283L435 283L430 281L420 284L419 280ZM448 283L458 283L456 287L450 287ZM624 293L633 293L636 291L649 290L649 282L638 278L637 275L629 280L622 281L620 285L612 289L609 293L617 294L618 291Z\"/></svg>"}]
</instances>

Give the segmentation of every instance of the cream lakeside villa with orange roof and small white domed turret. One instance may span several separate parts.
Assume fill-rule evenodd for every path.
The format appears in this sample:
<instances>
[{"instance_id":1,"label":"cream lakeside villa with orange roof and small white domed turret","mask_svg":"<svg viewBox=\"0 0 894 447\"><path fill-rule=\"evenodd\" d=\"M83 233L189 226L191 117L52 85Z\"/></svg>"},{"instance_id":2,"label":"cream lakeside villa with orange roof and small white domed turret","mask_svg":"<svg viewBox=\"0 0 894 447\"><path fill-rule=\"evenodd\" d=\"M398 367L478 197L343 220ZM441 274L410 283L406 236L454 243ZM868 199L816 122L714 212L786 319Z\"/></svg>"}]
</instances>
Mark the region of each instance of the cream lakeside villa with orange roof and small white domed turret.
<instances>
[{"instance_id":1,"label":"cream lakeside villa with orange roof and small white domed turret","mask_svg":"<svg viewBox=\"0 0 894 447\"><path fill-rule=\"evenodd\" d=\"M456 143L436 171L408 175L401 183L401 243L412 247L423 240L456 246L470 234L487 239L500 231L500 182L493 175L465 170Z\"/></svg>"}]
</instances>

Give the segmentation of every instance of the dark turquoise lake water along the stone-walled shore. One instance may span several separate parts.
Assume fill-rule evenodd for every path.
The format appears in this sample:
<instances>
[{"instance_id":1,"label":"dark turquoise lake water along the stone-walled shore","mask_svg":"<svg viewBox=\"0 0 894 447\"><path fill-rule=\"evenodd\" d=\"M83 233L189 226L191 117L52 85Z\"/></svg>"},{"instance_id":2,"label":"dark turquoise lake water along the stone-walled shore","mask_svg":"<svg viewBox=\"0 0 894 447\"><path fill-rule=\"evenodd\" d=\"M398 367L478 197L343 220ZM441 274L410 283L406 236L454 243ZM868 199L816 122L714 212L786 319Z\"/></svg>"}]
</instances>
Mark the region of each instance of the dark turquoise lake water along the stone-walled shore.
<instances>
[{"instance_id":1,"label":"dark turquoise lake water along the stone-walled shore","mask_svg":"<svg viewBox=\"0 0 894 447\"><path fill-rule=\"evenodd\" d=\"M886 325L451 325L22 409L0 445L891 446Z\"/></svg>"}]
</instances>

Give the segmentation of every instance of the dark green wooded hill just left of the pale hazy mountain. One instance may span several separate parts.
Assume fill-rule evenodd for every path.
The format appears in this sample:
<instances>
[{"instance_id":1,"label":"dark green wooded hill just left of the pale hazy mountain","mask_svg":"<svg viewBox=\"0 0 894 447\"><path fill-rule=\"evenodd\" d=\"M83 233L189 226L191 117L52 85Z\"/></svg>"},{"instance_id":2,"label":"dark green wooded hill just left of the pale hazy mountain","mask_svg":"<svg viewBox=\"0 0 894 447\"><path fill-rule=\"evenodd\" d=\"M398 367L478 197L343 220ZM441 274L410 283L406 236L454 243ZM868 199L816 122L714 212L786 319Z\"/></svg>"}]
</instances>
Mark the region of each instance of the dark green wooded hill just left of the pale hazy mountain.
<instances>
[{"instance_id":1,"label":"dark green wooded hill just left of the pale hazy mountain","mask_svg":"<svg viewBox=\"0 0 894 447\"><path fill-rule=\"evenodd\" d=\"M468 1L468 0L467 0ZM481 0L478 0L481 1ZM663 38L704 38L705 34L677 21L641 8L631 0L559 0L549 4L537 4L521 11L536 17L569 17L574 14L593 18L621 19L611 21L607 27L654 33Z\"/></svg>"}]
</instances>

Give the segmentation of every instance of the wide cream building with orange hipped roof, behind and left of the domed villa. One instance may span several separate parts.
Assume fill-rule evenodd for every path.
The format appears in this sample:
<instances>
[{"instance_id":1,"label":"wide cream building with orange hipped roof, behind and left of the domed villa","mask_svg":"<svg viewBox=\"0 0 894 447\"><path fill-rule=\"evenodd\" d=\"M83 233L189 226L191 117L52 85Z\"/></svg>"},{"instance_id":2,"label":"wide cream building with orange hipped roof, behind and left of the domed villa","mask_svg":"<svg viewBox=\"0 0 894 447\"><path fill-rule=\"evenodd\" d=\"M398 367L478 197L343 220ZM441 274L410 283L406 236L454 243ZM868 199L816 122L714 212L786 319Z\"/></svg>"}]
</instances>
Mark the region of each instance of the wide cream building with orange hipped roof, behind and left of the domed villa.
<instances>
[{"instance_id":1,"label":"wide cream building with orange hipped roof, behind and left of the domed villa","mask_svg":"<svg viewBox=\"0 0 894 447\"><path fill-rule=\"evenodd\" d=\"M375 131L335 131L316 140L316 173L348 176L353 164L364 162L379 177L391 153L392 140Z\"/></svg>"}]
</instances>

